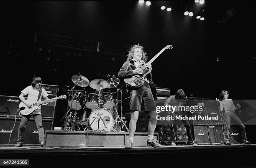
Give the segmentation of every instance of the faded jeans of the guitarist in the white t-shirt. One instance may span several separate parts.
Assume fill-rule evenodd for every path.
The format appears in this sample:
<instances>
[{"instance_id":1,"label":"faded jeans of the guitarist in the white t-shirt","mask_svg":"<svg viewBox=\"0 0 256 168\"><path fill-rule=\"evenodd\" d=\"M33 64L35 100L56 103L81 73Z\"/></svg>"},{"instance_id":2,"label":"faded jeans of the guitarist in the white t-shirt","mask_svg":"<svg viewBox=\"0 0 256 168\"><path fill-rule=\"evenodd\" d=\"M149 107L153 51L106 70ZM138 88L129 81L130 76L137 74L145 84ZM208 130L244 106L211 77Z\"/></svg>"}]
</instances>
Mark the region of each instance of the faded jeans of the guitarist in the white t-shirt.
<instances>
[{"instance_id":1,"label":"faded jeans of the guitarist in the white t-shirt","mask_svg":"<svg viewBox=\"0 0 256 168\"><path fill-rule=\"evenodd\" d=\"M32 115L23 115L23 117L21 118L19 129L18 129L17 144L24 142L27 121L29 118L31 118L31 116ZM42 125L42 115L36 114L36 115L33 115L33 117L36 121L36 127L37 127L38 135L39 135L39 143L41 143L42 141L44 141L44 127Z\"/></svg>"}]
</instances>

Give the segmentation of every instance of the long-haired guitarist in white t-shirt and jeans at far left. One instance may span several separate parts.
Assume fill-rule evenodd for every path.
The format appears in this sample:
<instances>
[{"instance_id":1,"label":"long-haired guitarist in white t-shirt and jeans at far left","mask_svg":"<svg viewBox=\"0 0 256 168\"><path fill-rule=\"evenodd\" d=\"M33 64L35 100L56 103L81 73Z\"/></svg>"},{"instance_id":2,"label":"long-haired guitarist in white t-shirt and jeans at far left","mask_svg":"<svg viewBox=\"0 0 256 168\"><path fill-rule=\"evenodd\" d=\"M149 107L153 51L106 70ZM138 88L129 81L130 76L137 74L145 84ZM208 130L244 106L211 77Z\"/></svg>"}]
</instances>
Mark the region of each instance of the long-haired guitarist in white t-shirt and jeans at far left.
<instances>
[{"instance_id":1,"label":"long-haired guitarist in white t-shirt and jeans at far left","mask_svg":"<svg viewBox=\"0 0 256 168\"><path fill-rule=\"evenodd\" d=\"M39 77L33 78L33 81L31 83L31 86L26 87L21 91L21 94L19 96L20 100L25 103L25 105L30 108L32 107L30 101L28 100L33 100L33 101L41 101L41 98L43 97L45 100L48 100L48 93L44 88L41 88L42 85L42 79ZM39 93L40 96L39 96ZM28 99L25 100L24 96L28 95ZM39 98L39 99L38 99ZM53 100L55 101L55 100ZM31 114L29 115L23 115L21 120L20 120L20 125L18 129L18 140L17 144L14 147L21 147L24 142L24 137L25 137L25 129L26 129L26 123L29 120L29 118L35 119L36 122L36 127L38 130L38 135L39 135L39 143L41 146L44 146L44 127L42 125L42 115L41 115L41 110L34 110Z\"/></svg>"}]
</instances>

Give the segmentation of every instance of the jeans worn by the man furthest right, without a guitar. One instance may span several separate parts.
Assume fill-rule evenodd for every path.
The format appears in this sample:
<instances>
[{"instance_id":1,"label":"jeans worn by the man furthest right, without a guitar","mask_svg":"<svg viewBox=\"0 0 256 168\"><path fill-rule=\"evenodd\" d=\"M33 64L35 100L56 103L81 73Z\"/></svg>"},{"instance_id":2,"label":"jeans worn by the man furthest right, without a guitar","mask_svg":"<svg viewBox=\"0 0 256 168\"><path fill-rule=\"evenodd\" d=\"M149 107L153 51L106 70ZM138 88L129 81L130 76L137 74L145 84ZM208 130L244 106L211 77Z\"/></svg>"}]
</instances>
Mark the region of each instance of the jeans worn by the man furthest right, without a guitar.
<instances>
[{"instance_id":1,"label":"jeans worn by the man furthest right, without a guitar","mask_svg":"<svg viewBox=\"0 0 256 168\"><path fill-rule=\"evenodd\" d=\"M241 128L242 140L243 141L247 140L245 126L243 125L242 121L237 117L235 111L233 111L233 110L225 110L225 122L226 122L227 126L225 127L224 140L228 141L228 133L230 130L230 119L231 118L233 118L233 120L235 120L236 123Z\"/></svg>"}]
</instances>

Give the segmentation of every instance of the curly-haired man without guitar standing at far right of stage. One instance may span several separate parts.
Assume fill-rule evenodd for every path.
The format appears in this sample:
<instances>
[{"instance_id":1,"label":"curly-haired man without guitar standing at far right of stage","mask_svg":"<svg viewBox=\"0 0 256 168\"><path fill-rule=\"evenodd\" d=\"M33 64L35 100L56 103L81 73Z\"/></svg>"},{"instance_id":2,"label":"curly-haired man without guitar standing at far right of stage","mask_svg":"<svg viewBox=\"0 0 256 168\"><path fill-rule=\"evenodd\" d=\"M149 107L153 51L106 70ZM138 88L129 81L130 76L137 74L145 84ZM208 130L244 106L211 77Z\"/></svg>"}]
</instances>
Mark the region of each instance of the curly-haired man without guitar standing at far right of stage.
<instances>
[{"instance_id":1,"label":"curly-haired man without guitar standing at far right of stage","mask_svg":"<svg viewBox=\"0 0 256 168\"><path fill-rule=\"evenodd\" d=\"M230 130L230 118L233 118L233 120L238 123L239 127L241 128L241 135L242 135L242 143L243 144L251 144L247 138L246 138L246 130L245 126L243 125L242 121L237 117L235 110L238 110L241 108L241 105L237 104L235 107L233 100L228 99L229 93L226 90L222 90L220 93L220 100L216 98L216 100L220 103L220 111L224 111L224 119L225 119L225 133L224 133L224 144L230 145L230 142L228 141L228 133Z\"/></svg>"}]
</instances>

